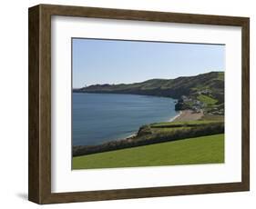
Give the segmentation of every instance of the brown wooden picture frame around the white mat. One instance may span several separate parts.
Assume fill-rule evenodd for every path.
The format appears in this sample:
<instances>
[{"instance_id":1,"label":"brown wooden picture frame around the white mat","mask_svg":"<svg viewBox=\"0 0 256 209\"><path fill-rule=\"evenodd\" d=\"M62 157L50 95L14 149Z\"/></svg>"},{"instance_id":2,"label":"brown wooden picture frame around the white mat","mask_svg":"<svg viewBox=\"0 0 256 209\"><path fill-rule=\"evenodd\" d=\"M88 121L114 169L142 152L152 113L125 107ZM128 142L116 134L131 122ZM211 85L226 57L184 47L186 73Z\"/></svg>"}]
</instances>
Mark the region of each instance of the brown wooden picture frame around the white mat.
<instances>
[{"instance_id":1,"label":"brown wooden picture frame around the white mat","mask_svg":"<svg viewBox=\"0 0 256 209\"><path fill-rule=\"evenodd\" d=\"M241 26L242 145L241 182L195 184L89 192L51 192L51 16L110 18L199 25ZM210 194L250 189L250 24L247 17L191 15L67 5L29 8L29 169L28 199L37 204Z\"/></svg>"}]
</instances>

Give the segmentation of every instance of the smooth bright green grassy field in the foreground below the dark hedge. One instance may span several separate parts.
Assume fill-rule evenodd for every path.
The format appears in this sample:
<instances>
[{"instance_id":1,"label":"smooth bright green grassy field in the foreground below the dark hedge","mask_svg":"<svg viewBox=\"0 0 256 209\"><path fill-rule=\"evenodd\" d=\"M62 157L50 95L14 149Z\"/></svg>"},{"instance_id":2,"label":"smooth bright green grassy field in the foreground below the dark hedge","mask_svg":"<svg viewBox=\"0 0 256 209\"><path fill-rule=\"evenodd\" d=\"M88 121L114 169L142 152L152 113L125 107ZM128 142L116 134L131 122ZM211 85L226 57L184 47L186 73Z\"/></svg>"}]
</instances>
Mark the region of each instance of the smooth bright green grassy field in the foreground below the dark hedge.
<instances>
[{"instance_id":1,"label":"smooth bright green grassy field in the foreground below the dark hedge","mask_svg":"<svg viewBox=\"0 0 256 209\"><path fill-rule=\"evenodd\" d=\"M72 169L224 163L224 134L73 157Z\"/></svg>"}]
</instances>

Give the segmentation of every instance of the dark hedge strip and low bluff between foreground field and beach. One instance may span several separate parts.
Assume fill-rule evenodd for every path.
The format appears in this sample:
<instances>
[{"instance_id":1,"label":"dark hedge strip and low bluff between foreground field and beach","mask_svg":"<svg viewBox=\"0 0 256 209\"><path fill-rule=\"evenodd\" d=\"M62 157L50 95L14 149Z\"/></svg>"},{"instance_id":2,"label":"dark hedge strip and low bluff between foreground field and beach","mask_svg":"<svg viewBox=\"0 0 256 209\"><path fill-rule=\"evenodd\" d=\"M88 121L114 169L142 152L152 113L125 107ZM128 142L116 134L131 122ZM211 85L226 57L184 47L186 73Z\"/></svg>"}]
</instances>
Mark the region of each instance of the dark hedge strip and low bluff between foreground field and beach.
<instances>
[{"instance_id":1,"label":"dark hedge strip and low bluff between foreground field and beach","mask_svg":"<svg viewBox=\"0 0 256 209\"><path fill-rule=\"evenodd\" d=\"M223 133L224 122L222 119L147 124L141 126L136 135L123 140L114 140L97 145L73 146L72 154L73 156L97 154L118 149Z\"/></svg>"}]
</instances>

